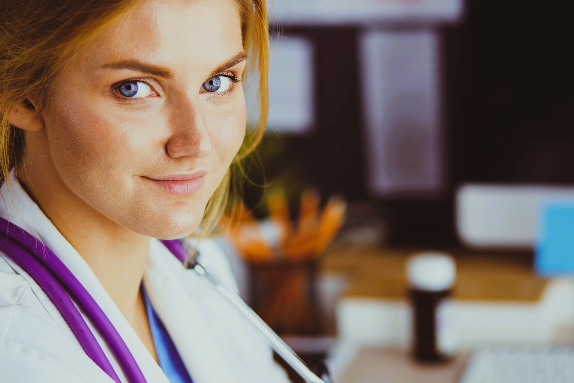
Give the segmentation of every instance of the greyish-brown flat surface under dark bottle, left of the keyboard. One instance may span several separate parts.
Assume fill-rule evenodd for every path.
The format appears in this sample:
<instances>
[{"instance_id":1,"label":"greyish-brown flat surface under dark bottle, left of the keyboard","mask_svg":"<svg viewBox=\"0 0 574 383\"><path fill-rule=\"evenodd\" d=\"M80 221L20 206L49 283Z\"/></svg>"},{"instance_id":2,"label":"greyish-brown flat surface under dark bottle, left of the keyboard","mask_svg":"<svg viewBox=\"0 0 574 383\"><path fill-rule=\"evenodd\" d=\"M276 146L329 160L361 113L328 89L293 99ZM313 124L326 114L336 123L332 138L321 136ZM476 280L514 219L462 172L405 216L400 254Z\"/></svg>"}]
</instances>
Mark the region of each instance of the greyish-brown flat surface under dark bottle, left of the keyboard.
<instances>
[{"instance_id":1,"label":"greyish-brown flat surface under dark bottle, left of the keyboard","mask_svg":"<svg viewBox=\"0 0 574 383\"><path fill-rule=\"evenodd\" d=\"M365 348L337 383L456 383L469 353L452 361L420 364L400 348Z\"/></svg>"}]
</instances>

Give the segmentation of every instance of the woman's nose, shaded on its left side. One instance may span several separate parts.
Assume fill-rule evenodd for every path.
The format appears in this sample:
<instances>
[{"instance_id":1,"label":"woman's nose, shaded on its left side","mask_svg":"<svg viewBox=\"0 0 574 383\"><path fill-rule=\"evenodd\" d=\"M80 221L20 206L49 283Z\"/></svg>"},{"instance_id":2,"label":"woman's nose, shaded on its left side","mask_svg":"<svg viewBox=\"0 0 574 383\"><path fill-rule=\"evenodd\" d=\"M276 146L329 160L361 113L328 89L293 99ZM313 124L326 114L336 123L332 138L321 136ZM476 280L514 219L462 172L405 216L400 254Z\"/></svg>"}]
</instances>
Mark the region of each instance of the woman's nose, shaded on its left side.
<instances>
[{"instance_id":1,"label":"woman's nose, shaded on its left side","mask_svg":"<svg viewBox=\"0 0 574 383\"><path fill-rule=\"evenodd\" d=\"M172 158L205 158L214 151L213 141L199 102L185 100L172 105L169 125L172 131L166 152Z\"/></svg>"}]
</instances>

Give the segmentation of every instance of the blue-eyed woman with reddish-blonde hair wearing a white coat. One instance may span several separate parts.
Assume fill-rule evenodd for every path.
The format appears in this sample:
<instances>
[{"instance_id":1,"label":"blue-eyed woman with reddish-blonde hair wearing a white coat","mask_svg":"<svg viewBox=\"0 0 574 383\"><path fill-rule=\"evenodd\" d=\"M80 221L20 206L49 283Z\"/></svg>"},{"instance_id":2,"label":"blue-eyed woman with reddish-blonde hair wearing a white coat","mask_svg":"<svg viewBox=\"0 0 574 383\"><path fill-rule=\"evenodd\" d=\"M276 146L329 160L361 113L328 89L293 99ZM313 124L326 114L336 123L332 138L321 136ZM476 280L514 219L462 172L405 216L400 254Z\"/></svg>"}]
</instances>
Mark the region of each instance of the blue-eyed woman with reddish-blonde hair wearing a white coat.
<instances>
[{"instance_id":1,"label":"blue-eyed woman with reddish-blonde hair wearing a white coat","mask_svg":"<svg viewBox=\"0 0 574 383\"><path fill-rule=\"evenodd\" d=\"M0 216L73 273L147 382L288 381L250 323L156 239L206 236L262 134L263 0L7 0L0 15ZM246 135L247 55L263 112ZM86 312L115 378L6 249L0 381L131 381ZM199 252L236 289L218 248Z\"/></svg>"}]
</instances>

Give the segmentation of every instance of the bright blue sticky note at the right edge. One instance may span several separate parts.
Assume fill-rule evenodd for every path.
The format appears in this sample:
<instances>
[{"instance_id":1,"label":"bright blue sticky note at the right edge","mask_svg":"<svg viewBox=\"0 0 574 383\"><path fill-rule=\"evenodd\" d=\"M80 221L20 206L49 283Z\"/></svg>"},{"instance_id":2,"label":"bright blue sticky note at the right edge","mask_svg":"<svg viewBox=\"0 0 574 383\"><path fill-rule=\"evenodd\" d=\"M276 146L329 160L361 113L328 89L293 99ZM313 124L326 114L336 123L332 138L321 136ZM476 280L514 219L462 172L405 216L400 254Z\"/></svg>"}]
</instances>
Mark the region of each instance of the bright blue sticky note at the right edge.
<instances>
[{"instance_id":1,"label":"bright blue sticky note at the right edge","mask_svg":"<svg viewBox=\"0 0 574 383\"><path fill-rule=\"evenodd\" d=\"M538 274L574 274L574 202L546 202L540 209L534 267Z\"/></svg>"}]
</instances>

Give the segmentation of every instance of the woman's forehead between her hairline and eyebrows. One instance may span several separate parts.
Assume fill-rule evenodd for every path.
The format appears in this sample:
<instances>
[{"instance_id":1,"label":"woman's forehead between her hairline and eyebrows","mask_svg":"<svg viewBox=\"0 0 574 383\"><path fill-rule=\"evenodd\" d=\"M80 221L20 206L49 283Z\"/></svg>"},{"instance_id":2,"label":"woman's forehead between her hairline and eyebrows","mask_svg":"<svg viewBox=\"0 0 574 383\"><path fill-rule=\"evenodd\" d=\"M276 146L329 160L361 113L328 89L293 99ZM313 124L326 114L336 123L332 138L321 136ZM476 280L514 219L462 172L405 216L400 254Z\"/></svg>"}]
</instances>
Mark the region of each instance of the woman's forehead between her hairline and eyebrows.
<instances>
[{"instance_id":1,"label":"woman's forehead between her hairline and eyebrows","mask_svg":"<svg viewBox=\"0 0 574 383\"><path fill-rule=\"evenodd\" d=\"M212 70L242 51L235 0L144 0L83 49L88 66L142 60Z\"/></svg>"}]
</instances>

